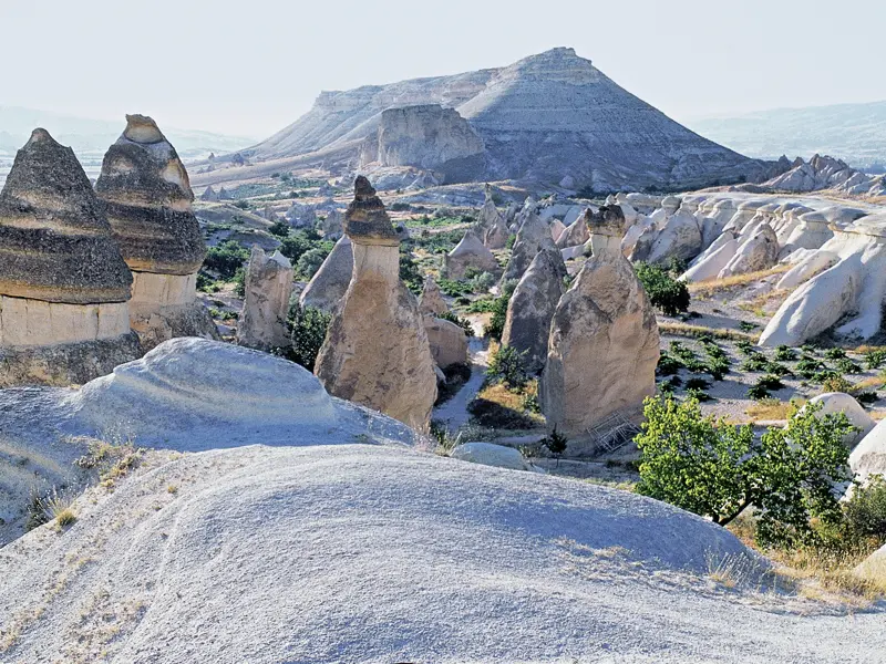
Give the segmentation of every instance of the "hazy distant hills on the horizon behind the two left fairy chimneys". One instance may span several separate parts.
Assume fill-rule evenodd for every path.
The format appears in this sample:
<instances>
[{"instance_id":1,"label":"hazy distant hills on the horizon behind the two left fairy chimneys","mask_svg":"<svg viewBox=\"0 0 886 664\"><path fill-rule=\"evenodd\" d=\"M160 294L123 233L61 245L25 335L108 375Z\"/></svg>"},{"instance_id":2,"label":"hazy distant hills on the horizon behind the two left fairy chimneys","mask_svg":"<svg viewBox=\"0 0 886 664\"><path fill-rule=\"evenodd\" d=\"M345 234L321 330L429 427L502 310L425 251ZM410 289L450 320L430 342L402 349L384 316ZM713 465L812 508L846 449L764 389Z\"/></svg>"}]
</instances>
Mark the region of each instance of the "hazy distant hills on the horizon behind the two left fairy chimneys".
<instances>
[{"instance_id":1,"label":"hazy distant hills on the horizon behind the two left fairy chimneys","mask_svg":"<svg viewBox=\"0 0 886 664\"><path fill-rule=\"evenodd\" d=\"M35 127L48 129L59 143L71 146L87 173L94 175L101 167L104 153L125 126L124 117L120 122L109 122L34 108L0 106L0 181L9 170L16 152L28 142ZM173 127L162 129L186 162L205 159L210 153L228 153L255 143L255 138L244 136Z\"/></svg>"}]
</instances>

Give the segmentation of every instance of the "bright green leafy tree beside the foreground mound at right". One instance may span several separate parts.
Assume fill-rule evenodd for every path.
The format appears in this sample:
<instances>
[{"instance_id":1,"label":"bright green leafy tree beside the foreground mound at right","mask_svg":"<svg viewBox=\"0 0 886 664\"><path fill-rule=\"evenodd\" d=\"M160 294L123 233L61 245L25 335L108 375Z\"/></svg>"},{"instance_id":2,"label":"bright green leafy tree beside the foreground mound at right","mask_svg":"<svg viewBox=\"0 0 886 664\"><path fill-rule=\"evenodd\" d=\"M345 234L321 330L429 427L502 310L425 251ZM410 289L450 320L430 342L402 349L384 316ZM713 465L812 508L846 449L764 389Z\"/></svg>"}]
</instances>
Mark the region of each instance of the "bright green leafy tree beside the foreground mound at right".
<instances>
[{"instance_id":1,"label":"bright green leafy tree beside the foreground mound at right","mask_svg":"<svg viewBox=\"0 0 886 664\"><path fill-rule=\"evenodd\" d=\"M853 427L820 409L807 405L756 439L749 425L702 417L693 400L648 398L637 490L721 526L753 506L762 544L803 541L813 520L841 520L833 486L848 480L843 437Z\"/></svg>"}]
</instances>

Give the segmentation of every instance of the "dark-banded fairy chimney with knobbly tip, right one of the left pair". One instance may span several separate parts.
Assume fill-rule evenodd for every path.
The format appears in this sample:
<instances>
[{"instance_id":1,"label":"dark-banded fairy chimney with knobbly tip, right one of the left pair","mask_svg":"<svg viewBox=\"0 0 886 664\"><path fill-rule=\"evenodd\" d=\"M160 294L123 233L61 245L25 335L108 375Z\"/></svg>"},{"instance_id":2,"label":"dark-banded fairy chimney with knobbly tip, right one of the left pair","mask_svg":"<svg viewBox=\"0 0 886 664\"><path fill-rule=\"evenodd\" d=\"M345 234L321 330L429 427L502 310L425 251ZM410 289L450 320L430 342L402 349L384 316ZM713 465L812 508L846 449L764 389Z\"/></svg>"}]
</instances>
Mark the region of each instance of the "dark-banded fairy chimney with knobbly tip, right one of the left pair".
<instances>
[{"instance_id":1,"label":"dark-banded fairy chimney with knobbly tip, right one of the left pair","mask_svg":"<svg viewBox=\"0 0 886 664\"><path fill-rule=\"evenodd\" d=\"M196 300L206 246L192 211L187 170L152 118L126 116L95 190L133 271L130 313L143 343L154 347L174 336L217 338Z\"/></svg>"}]
</instances>

